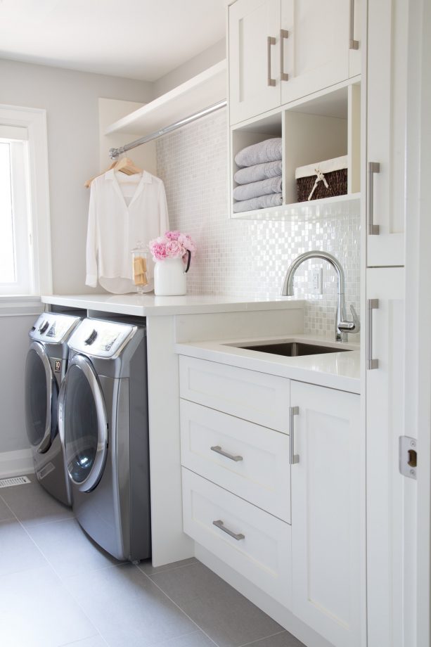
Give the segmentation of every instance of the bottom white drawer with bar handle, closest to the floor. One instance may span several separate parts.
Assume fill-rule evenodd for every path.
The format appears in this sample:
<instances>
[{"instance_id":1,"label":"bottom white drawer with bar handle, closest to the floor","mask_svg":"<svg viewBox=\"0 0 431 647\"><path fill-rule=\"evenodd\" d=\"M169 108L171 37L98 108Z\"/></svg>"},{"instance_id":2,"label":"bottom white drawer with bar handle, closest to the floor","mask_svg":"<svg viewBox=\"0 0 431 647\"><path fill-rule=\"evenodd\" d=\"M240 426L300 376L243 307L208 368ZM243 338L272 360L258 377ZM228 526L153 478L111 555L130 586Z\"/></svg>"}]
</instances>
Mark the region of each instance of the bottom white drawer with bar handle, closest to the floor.
<instances>
[{"instance_id":1,"label":"bottom white drawer with bar handle, closest to the floor","mask_svg":"<svg viewBox=\"0 0 431 647\"><path fill-rule=\"evenodd\" d=\"M186 468L182 476L184 532L290 608L290 525Z\"/></svg>"}]
</instances>

